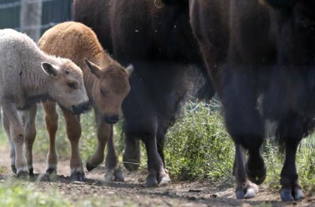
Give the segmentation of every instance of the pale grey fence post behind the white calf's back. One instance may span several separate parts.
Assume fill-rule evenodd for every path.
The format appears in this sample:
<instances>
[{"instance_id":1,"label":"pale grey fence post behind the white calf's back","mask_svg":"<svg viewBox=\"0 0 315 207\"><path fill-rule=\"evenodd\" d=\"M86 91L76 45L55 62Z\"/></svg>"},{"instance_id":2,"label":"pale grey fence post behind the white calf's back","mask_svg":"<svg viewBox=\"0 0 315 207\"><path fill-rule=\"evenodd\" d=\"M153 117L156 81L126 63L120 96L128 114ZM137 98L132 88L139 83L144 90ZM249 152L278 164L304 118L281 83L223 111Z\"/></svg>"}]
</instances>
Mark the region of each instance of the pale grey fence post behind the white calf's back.
<instances>
[{"instance_id":1,"label":"pale grey fence post behind the white calf's back","mask_svg":"<svg viewBox=\"0 0 315 207\"><path fill-rule=\"evenodd\" d=\"M21 0L21 32L28 34L34 41L40 38L42 0Z\"/></svg>"}]
</instances>

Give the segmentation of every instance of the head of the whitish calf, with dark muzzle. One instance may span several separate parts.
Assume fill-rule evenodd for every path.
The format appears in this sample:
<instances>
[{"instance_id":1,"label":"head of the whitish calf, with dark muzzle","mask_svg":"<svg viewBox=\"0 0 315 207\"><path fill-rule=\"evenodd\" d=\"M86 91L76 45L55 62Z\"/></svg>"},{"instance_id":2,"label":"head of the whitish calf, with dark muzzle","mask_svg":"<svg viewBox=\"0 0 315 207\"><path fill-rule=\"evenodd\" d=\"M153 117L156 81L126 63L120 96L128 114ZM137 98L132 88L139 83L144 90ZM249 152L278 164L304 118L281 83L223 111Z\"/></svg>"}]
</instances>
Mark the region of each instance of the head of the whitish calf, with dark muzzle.
<instances>
[{"instance_id":1,"label":"head of the whitish calf, with dark muzzle","mask_svg":"<svg viewBox=\"0 0 315 207\"><path fill-rule=\"evenodd\" d=\"M46 83L48 95L62 108L80 114L89 106L82 70L68 59L59 62L59 65L42 63L43 71L49 76Z\"/></svg>"}]
</instances>

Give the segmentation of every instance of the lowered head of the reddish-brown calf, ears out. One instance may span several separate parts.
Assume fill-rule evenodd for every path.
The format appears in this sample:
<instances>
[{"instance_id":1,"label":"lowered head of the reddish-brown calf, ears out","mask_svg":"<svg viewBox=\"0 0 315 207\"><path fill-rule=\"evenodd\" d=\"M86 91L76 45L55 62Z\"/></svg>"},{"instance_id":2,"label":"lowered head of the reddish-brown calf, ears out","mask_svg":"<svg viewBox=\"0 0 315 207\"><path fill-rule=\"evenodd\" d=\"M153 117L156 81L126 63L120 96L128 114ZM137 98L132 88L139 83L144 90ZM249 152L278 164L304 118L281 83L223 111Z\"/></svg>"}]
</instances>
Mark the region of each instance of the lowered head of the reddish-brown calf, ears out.
<instances>
[{"instance_id":1,"label":"lowered head of the reddish-brown calf, ears out","mask_svg":"<svg viewBox=\"0 0 315 207\"><path fill-rule=\"evenodd\" d=\"M133 67L123 68L117 62L108 68L100 68L89 60L85 60L92 73L99 81L93 87L93 98L102 119L107 124L119 121L121 105L130 91L129 77Z\"/></svg>"}]
</instances>

